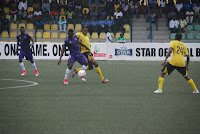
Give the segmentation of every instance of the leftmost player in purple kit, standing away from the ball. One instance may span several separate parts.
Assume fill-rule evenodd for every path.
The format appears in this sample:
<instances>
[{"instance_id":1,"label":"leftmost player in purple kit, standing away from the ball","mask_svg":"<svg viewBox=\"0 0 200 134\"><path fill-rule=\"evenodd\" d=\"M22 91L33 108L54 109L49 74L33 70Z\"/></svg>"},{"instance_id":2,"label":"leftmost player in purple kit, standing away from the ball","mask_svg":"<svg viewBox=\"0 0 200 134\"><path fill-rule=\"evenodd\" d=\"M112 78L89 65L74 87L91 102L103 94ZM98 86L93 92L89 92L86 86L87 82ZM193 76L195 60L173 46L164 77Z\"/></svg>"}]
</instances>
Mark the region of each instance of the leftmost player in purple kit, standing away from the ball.
<instances>
[{"instance_id":1,"label":"leftmost player in purple kit, standing away from the ball","mask_svg":"<svg viewBox=\"0 0 200 134\"><path fill-rule=\"evenodd\" d=\"M20 27L21 34L17 36L17 48L16 53L18 54L18 46L21 46L20 54L19 54L19 63L21 68L23 69L22 76L27 74L27 71L25 69L24 63L22 62L22 59L26 57L26 60L29 60L32 63L32 66L35 69L35 76L39 76L37 66L33 60L32 51L30 49L30 46L34 44L33 38L25 33L24 27ZM30 43L32 41L32 43Z\"/></svg>"}]
</instances>

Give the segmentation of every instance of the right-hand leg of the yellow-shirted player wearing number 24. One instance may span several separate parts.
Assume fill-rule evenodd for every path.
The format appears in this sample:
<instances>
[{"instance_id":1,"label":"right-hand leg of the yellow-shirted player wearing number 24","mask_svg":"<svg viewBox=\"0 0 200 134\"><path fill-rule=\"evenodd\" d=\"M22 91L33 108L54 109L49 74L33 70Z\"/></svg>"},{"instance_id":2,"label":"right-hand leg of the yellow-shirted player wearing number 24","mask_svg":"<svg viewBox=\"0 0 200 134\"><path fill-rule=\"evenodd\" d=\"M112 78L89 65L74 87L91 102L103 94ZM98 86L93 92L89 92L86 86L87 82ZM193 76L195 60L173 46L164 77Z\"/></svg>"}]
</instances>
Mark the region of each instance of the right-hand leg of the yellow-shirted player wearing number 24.
<instances>
[{"instance_id":1,"label":"right-hand leg of the yellow-shirted player wearing number 24","mask_svg":"<svg viewBox=\"0 0 200 134\"><path fill-rule=\"evenodd\" d=\"M177 71L183 75L183 77L187 80L188 84L193 88L193 93L199 93L194 81L188 76L186 67L177 68Z\"/></svg>"}]
</instances>

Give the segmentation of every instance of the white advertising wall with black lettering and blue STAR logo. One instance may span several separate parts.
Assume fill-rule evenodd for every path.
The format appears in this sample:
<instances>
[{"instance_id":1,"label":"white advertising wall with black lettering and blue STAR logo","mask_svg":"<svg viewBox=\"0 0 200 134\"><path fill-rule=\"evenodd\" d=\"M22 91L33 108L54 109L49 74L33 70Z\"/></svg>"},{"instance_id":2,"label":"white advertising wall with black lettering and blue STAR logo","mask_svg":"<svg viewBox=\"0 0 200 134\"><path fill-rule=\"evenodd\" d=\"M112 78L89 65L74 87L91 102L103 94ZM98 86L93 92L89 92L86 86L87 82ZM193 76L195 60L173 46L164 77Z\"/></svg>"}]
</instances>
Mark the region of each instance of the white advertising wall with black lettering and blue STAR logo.
<instances>
[{"instance_id":1,"label":"white advertising wall with black lettering and blue STAR logo","mask_svg":"<svg viewBox=\"0 0 200 134\"><path fill-rule=\"evenodd\" d=\"M186 43L191 61L200 62L200 43ZM0 59L18 59L14 53L16 42L0 42ZM96 60L160 61L164 60L169 43L91 43ZM57 60L62 43L36 42L32 48L34 59ZM68 59L66 50L63 59Z\"/></svg>"}]
</instances>

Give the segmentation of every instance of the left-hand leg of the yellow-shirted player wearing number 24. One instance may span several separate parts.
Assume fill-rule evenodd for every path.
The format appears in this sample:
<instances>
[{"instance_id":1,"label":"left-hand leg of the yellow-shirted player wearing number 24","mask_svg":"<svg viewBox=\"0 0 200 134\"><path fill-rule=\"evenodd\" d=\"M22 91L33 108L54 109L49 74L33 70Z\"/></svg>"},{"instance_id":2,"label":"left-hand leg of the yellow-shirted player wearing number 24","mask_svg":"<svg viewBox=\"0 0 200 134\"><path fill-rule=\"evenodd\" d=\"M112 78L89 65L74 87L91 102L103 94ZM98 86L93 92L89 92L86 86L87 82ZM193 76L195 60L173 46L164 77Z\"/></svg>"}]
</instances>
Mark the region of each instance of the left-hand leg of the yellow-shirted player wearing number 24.
<instances>
[{"instance_id":1,"label":"left-hand leg of the yellow-shirted player wearing number 24","mask_svg":"<svg viewBox=\"0 0 200 134\"><path fill-rule=\"evenodd\" d=\"M164 84L164 76L165 74L170 74L172 73L174 70L174 67L167 63L164 65L163 69L161 70L160 76L158 78L158 90L155 90L154 93L162 93L162 89L163 89L163 84Z\"/></svg>"}]
</instances>

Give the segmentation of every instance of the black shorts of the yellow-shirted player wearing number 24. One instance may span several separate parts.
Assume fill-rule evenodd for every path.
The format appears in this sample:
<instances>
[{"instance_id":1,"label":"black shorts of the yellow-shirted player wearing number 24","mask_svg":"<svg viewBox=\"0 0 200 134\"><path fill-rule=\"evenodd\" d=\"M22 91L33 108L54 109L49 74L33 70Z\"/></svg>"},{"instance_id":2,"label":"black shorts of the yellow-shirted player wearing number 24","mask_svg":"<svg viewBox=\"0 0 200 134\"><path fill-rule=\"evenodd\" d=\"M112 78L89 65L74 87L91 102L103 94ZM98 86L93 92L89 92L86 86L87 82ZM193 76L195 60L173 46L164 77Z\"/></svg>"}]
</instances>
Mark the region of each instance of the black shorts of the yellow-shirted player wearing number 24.
<instances>
[{"instance_id":1,"label":"black shorts of the yellow-shirted player wearing number 24","mask_svg":"<svg viewBox=\"0 0 200 134\"><path fill-rule=\"evenodd\" d=\"M169 62L167 62L167 64L165 64L165 66L163 67L163 69L161 71L164 74L170 75L174 71L174 69L176 69L184 77L188 76L186 67L176 67L176 66L171 65Z\"/></svg>"}]
</instances>

